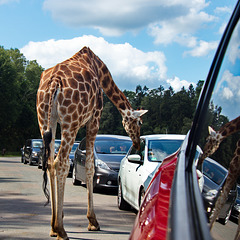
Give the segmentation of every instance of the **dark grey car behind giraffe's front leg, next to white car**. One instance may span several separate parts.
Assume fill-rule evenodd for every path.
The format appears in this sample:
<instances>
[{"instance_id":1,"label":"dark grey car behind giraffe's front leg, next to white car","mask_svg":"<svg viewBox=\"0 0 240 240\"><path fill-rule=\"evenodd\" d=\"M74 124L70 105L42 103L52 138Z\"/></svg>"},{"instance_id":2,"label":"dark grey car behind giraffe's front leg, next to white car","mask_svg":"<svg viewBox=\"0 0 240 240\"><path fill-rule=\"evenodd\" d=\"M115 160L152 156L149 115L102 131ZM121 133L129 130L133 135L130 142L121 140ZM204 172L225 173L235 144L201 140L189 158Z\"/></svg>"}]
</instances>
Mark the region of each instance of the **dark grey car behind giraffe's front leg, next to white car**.
<instances>
[{"instance_id":1,"label":"dark grey car behind giraffe's front leg, next to white car","mask_svg":"<svg viewBox=\"0 0 240 240\"><path fill-rule=\"evenodd\" d=\"M119 135L97 135L94 144L95 173L93 178L94 188L117 189L117 176L121 160L127 154L132 141L129 137ZM86 138L84 138L73 160L73 184L86 182Z\"/></svg>"}]
</instances>

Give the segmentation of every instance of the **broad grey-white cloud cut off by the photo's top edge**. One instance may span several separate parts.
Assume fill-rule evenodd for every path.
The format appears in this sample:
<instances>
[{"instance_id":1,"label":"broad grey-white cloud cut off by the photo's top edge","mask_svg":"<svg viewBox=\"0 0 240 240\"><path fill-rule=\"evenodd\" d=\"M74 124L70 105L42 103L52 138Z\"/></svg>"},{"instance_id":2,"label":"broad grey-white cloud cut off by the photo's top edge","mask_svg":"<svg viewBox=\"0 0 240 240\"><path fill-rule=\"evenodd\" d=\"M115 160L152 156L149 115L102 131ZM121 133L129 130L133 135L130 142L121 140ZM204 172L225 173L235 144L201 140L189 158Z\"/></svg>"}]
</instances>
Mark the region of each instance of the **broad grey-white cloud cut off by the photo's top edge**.
<instances>
[{"instance_id":1,"label":"broad grey-white cloud cut off by the photo's top edge","mask_svg":"<svg viewBox=\"0 0 240 240\"><path fill-rule=\"evenodd\" d=\"M68 26L97 28L107 35L135 31L188 11L182 1L164 0L45 0L43 7Z\"/></svg>"}]
</instances>

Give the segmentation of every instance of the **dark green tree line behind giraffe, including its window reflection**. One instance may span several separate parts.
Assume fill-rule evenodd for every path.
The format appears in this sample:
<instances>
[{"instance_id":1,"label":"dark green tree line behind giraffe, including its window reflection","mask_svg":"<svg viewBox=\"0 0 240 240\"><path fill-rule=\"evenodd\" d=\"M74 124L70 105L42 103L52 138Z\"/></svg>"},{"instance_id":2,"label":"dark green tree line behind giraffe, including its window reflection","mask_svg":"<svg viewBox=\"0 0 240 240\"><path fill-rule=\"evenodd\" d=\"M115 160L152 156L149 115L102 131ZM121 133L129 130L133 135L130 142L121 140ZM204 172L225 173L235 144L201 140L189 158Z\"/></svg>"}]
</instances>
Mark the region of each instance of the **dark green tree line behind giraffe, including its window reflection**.
<instances>
[{"instance_id":1,"label":"dark green tree line behind giraffe, including its window reflection","mask_svg":"<svg viewBox=\"0 0 240 240\"><path fill-rule=\"evenodd\" d=\"M28 61L18 49L0 47L0 150L20 151L26 139L41 138L36 113L36 93L44 69L36 61ZM124 90L134 109L147 109L143 116L141 134L186 134L191 128L194 111L204 81L199 80L174 92L172 87L159 86L149 89L136 86L135 91ZM221 114L221 107L210 104L207 125L218 130L229 120ZM104 94L104 107L99 133L126 135L121 115ZM79 130L77 140L85 136L85 128ZM207 132L201 139L204 144ZM57 129L60 138L60 129ZM215 159L228 167L239 134L227 138L214 155Z\"/></svg>"}]
</instances>

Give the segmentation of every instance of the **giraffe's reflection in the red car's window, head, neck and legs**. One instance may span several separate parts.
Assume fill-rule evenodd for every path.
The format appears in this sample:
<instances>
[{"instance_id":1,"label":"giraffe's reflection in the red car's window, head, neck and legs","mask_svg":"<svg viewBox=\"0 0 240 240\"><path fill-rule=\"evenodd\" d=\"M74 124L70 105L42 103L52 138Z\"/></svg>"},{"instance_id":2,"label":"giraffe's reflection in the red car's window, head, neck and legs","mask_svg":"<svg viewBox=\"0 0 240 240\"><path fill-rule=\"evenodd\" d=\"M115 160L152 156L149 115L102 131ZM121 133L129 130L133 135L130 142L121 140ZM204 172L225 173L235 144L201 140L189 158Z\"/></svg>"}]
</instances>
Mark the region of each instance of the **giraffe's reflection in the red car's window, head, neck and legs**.
<instances>
[{"instance_id":1,"label":"giraffe's reflection in the red car's window, head, neck and legs","mask_svg":"<svg viewBox=\"0 0 240 240\"><path fill-rule=\"evenodd\" d=\"M228 136L238 132L240 130L240 116L233 119L232 121L226 123L219 131L214 131L211 127L208 127L209 136L206 139L206 144L203 148L203 155L199 161L201 165L204 159L210 155L212 155L220 146L221 142ZM237 178L240 176L240 139L236 144L236 149L233 155L233 158L230 162L228 169L228 176L226 182L223 186L222 192L218 197L213 212L209 218L210 221L210 229L212 229L214 222L216 221L220 210L225 204L228 194L236 183ZM237 233L235 239L240 239L240 220L238 224Z\"/></svg>"}]
</instances>

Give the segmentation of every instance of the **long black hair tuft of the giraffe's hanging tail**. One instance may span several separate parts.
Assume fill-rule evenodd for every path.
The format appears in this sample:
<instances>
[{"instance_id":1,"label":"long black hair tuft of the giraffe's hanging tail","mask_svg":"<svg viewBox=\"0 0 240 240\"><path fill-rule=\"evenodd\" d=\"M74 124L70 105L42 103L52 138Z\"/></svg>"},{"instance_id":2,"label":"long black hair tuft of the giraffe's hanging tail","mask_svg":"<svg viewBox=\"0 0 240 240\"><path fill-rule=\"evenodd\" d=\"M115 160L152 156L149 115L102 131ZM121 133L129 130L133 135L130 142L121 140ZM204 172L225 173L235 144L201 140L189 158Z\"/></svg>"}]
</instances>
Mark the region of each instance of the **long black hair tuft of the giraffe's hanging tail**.
<instances>
[{"instance_id":1,"label":"long black hair tuft of the giraffe's hanging tail","mask_svg":"<svg viewBox=\"0 0 240 240\"><path fill-rule=\"evenodd\" d=\"M42 163L42 170L44 171L42 188L43 188L44 195L47 198L47 202L45 203L44 206L49 204L49 198L50 198L49 190L47 189L47 182L48 182L47 169L48 169L48 158L50 156L51 141L52 141L52 131L51 130L46 131L43 134L44 154L43 154L43 163Z\"/></svg>"}]
</instances>

